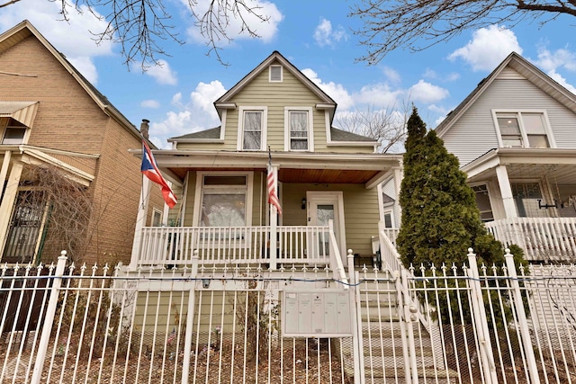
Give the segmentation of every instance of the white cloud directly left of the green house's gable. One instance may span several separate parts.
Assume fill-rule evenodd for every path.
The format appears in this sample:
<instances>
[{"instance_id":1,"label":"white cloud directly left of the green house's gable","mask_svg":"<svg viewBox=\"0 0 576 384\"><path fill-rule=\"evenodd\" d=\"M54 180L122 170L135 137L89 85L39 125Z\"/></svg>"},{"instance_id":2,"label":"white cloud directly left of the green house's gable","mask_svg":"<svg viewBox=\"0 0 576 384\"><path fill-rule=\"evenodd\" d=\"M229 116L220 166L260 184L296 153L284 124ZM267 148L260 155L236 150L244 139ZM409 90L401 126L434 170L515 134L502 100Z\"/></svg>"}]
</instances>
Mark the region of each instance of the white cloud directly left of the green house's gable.
<instances>
[{"instance_id":1,"label":"white cloud directly left of the green house's gable","mask_svg":"<svg viewBox=\"0 0 576 384\"><path fill-rule=\"evenodd\" d=\"M150 123L150 139L158 147L167 148L166 138L219 126L218 113L212 103L225 92L220 81L214 80L210 84L199 83L186 104L181 93L175 94L172 103L177 111L167 112L164 121Z\"/></svg>"}]
</instances>

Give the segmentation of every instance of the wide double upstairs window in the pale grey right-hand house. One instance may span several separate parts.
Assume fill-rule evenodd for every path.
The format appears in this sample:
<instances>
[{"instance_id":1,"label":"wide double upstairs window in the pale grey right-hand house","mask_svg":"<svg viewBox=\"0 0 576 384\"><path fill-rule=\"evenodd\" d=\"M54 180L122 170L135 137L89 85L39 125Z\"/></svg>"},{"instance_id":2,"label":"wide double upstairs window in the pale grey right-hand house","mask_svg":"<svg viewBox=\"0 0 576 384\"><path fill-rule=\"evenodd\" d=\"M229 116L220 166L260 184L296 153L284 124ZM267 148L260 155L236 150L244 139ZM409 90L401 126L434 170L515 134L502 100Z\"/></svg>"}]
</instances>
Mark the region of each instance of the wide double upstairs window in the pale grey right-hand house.
<instances>
[{"instance_id":1,"label":"wide double upstairs window in the pale grey right-hand house","mask_svg":"<svg viewBox=\"0 0 576 384\"><path fill-rule=\"evenodd\" d=\"M502 147L553 147L545 112L495 112Z\"/></svg>"}]
</instances>

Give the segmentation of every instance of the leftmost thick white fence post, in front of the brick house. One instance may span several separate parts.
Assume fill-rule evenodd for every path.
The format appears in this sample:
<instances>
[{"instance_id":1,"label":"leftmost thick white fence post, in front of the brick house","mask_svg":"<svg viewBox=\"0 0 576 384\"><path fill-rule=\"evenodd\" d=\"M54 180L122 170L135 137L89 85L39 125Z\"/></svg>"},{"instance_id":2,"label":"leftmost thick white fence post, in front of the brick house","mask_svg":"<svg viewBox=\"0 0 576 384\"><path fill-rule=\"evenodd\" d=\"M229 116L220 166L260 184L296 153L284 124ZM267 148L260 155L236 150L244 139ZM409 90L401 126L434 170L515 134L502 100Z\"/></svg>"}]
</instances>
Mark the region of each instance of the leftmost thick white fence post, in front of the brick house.
<instances>
[{"instance_id":1,"label":"leftmost thick white fence post, in front of the brick house","mask_svg":"<svg viewBox=\"0 0 576 384\"><path fill-rule=\"evenodd\" d=\"M50 334L52 333L52 325L54 324L54 316L56 315L56 307L58 305L58 296L60 293L59 290L62 285L62 276L64 275L66 260L66 251L62 251L58 256L56 271L53 275L54 280L50 289L48 308L46 308L46 317L44 320L44 325L42 326L42 334L40 335L40 343L38 344L38 353L36 354L36 362L34 363L34 371L32 372L31 384L38 384L42 379L44 360L46 359Z\"/></svg>"}]
</instances>

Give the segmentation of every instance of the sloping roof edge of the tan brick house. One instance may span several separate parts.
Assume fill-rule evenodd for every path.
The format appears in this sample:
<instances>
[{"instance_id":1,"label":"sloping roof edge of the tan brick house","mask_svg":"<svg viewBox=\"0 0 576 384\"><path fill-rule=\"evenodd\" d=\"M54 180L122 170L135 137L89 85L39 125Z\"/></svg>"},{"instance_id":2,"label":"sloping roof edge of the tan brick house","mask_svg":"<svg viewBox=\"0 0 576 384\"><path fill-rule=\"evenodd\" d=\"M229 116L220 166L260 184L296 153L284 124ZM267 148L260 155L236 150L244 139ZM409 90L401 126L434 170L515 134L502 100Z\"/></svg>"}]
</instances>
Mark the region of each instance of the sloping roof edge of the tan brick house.
<instances>
[{"instance_id":1,"label":"sloping roof edge of the tan brick house","mask_svg":"<svg viewBox=\"0 0 576 384\"><path fill-rule=\"evenodd\" d=\"M102 109L104 113L112 117L112 119L118 121L124 128L128 129L136 137L140 137L139 130L123 115L118 111L108 99L101 94L78 70L70 64L70 62L58 52L57 49L50 44L44 36L38 31L28 20L20 22L8 31L0 34L0 52L10 49L18 44L20 41L34 36L40 43L49 50L49 52L56 58L62 67L66 68L67 72L72 75L78 84L84 88L86 94L88 94L94 103Z\"/></svg>"}]
</instances>

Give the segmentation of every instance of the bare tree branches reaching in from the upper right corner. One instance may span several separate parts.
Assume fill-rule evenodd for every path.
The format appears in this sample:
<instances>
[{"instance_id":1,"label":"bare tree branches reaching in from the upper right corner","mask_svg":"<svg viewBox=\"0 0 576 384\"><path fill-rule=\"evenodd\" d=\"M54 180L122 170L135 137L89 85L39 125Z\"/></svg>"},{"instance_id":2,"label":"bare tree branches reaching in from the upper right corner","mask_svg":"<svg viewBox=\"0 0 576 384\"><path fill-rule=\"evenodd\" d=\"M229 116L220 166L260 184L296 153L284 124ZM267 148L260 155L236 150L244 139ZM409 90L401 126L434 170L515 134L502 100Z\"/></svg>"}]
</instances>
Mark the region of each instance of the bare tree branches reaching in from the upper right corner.
<instances>
[{"instance_id":1,"label":"bare tree branches reaching in from the upper right corner","mask_svg":"<svg viewBox=\"0 0 576 384\"><path fill-rule=\"evenodd\" d=\"M380 62L393 49L427 49L465 30L492 24L509 28L523 20L540 24L560 14L576 16L574 0L358 0L351 16L363 27L355 33L367 54L359 61Z\"/></svg>"}]
</instances>

